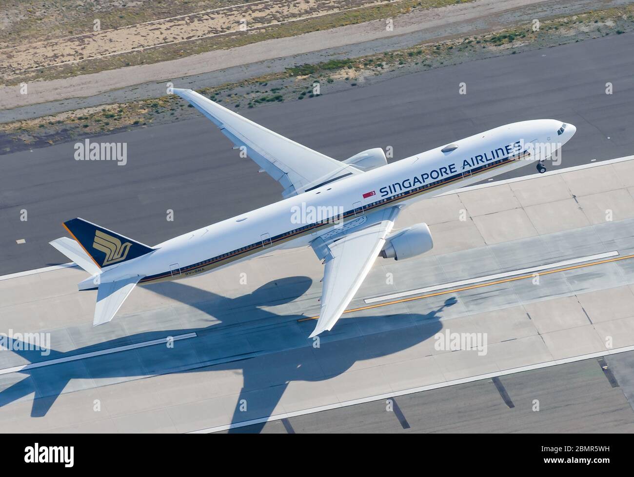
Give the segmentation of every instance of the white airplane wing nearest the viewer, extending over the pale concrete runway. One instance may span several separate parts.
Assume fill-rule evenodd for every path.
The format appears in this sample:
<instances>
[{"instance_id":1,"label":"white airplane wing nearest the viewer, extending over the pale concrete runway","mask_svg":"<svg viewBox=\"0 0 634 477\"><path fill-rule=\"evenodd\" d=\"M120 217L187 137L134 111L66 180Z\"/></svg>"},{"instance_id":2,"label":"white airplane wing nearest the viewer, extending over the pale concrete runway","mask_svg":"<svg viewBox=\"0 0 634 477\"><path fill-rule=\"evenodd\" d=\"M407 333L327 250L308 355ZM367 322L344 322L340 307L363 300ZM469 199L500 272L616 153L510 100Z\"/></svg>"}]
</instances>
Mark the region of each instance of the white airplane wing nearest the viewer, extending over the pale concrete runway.
<instances>
[{"instance_id":1,"label":"white airplane wing nearest the viewer, extending over the pale concrete runway","mask_svg":"<svg viewBox=\"0 0 634 477\"><path fill-rule=\"evenodd\" d=\"M321 291L320 317L309 337L330 330L359 290L363 280L385 245L385 237L394 226L398 207L384 211L380 221L325 247L325 271ZM315 248L315 247L313 247ZM318 250L316 250L318 252ZM319 254L318 254L319 256Z\"/></svg>"}]
</instances>

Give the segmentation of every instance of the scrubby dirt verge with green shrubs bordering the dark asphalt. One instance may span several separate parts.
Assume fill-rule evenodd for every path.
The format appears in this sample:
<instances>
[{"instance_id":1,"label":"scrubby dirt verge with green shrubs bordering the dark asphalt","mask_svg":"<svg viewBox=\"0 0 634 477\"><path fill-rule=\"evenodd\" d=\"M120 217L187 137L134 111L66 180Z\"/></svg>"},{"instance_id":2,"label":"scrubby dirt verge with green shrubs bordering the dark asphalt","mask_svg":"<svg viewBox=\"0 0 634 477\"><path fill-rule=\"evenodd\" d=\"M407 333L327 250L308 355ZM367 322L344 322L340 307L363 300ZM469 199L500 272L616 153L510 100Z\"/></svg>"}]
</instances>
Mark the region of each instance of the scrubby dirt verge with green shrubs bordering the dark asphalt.
<instances>
[{"instance_id":1,"label":"scrubby dirt verge with green shrubs bordering the dark asphalt","mask_svg":"<svg viewBox=\"0 0 634 477\"><path fill-rule=\"evenodd\" d=\"M607 35L634 31L634 5L593 11L579 15L543 19L540 30L531 23L439 42L423 42L409 48L383 53L287 67L282 72L203 87L202 77L195 88L212 100L240 112L276 101L311 100L314 84L323 91L335 93L351 87L385 81L399 75L491 56L515 55L532 49L548 48L569 42L592 41ZM225 80L226 81L226 80ZM157 85L155 85L157 86ZM46 105L38 105L43 107ZM197 112L186 107L178 96L109 101L108 104L85 107L52 115L40 115L23 121L0 124L0 154L25 148L44 147L79 137L166 124L195 117Z\"/></svg>"}]
</instances>

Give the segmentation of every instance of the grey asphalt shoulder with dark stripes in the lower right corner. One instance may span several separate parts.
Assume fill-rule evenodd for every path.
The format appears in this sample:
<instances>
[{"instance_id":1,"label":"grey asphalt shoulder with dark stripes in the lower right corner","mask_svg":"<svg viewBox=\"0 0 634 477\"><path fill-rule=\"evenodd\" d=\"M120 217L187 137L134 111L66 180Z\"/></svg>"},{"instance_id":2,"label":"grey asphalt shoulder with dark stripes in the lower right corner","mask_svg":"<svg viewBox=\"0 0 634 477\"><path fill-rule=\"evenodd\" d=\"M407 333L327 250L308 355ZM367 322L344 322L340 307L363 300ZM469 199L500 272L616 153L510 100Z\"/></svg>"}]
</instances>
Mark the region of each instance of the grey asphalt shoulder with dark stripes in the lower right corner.
<instances>
[{"instance_id":1,"label":"grey asphalt shoulder with dark stripes in the lower right corner","mask_svg":"<svg viewBox=\"0 0 634 477\"><path fill-rule=\"evenodd\" d=\"M391 406L374 401L231 432L631 433L632 409L619 384L612 386L592 359L504 376L497 385L486 379L391 398Z\"/></svg>"}]
</instances>

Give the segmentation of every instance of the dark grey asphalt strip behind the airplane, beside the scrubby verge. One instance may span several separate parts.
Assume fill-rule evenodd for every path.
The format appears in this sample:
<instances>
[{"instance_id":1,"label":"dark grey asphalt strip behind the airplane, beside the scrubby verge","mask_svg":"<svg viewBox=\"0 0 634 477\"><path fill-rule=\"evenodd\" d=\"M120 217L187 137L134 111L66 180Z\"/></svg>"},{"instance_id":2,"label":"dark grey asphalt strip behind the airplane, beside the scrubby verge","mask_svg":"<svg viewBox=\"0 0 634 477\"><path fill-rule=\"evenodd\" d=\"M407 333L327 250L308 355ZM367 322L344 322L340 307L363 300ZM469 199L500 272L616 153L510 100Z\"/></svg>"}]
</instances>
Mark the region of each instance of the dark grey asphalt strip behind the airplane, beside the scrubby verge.
<instances>
[{"instance_id":1,"label":"dark grey asphalt strip behind the airplane, beside the scrubby verge","mask_svg":"<svg viewBox=\"0 0 634 477\"><path fill-rule=\"evenodd\" d=\"M560 166L569 167L634 150L633 48L634 35L604 37L332 95L323 88L318 98L247 116L337 159L388 146L401 159L501 124L556 118L578 128ZM460 82L467 95L458 94ZM605 94L606 82L614 94ZM127 143L126 166L74 160L75 143L2 156L0 274L64 263L48 242L65 235L60 224L70 218L152 245L281 197L204 117L103 140ZM520 173L534 172L527 169Z\"/></svg>"}]
</instances>

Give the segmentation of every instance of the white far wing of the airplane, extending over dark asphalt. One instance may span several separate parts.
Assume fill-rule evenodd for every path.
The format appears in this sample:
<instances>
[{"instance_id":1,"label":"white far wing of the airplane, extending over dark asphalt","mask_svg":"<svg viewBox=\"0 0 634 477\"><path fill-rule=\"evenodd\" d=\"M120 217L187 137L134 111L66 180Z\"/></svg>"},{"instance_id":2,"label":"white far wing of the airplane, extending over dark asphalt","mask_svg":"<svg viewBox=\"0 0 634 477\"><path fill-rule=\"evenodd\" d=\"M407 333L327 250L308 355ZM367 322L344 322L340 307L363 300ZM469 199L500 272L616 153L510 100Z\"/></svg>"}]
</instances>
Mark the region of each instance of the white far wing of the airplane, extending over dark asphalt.
<instances>
[{"instance_id":1,"label":"white far wing of the airplane, extending over dark asphalt","mask_svg":"<svg viewBox=\"0 0 634 477\"><path fill-rule=\"evenodd\" d=\"M245 147L249 157L283 187L291 197L361 171L269 131L249 119L214 103L191 89L174 88L174 94L188 100L209 118L234 144Z\"/></svg>"}]
</instances>

